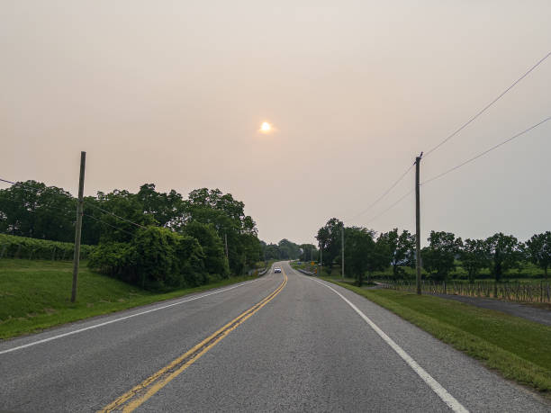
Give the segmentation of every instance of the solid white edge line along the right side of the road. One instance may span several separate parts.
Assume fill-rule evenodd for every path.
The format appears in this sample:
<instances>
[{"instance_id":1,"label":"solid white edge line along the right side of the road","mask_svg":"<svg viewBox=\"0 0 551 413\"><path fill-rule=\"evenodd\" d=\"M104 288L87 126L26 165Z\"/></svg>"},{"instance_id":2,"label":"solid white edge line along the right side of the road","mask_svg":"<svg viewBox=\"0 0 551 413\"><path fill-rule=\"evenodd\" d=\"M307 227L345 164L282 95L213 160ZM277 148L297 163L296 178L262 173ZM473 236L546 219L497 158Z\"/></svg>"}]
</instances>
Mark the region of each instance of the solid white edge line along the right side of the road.
<instances>
[{"instance_id":1,"label":"solid white edge line along the right side of the road","mask_svg":"<svg viewBox=\"0 0 551 413\"><path fill-rule=\"evenodd\" d=\"M321 283L321 281L316 280L315 278L312 278L313 281L316 283ZM330 285L327 285L326 283L321 283L324 287L329 288L332 292L335 292L341 299L346 301L346 303L352 307L353 310L357 312L357 314L366 321L367 324L369 324L369 327L373 328L375 330L375 333L377 333L381 338L383 338L384 342L391 346L393 350L402 357L403 361L405 361L411 369L417 373L420 378L423 380L423 382L426 382L429 384L430 389L437 393L438 397L444 401L444 403L447 404L447 406L454 410L456 413L468 413L469 410L465 409L465 407L459 403L459 401L456 400L455 397L453 397L451 394L447 392L446 389L442 387L442 385L437 382L432 376L427 373L415 360L411 358L410 355L408 355L401 346L398 346L394 340L391 337L388 337L384 331L379 328L371 319L369 319L366 314L364 314L361 310L359 310L352 302L348 301L348 299L342 295L340 292L335 290L334 288L330 287Z\"/></svg>"}]
</instances>

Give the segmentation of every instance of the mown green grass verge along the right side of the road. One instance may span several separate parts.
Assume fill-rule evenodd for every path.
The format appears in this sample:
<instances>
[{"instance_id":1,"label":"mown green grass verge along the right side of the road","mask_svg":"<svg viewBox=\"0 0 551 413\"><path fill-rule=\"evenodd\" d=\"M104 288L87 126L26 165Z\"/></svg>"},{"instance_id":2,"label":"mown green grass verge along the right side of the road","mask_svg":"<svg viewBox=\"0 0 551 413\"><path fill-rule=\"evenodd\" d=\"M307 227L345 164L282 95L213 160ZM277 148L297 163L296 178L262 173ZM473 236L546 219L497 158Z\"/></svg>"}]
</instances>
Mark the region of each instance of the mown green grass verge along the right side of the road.
<instances>
[{"instance_id":1,"label":"mown green grass verge along the right side of the road","mask_svg":"<svg viewBox=\"0 0 551 413\"><path fill-rule=\"evenodd\" d=\"M503 377L551 399L551 327L429 295L335 282L393 311Z\"/></svg>"}]
</instances>

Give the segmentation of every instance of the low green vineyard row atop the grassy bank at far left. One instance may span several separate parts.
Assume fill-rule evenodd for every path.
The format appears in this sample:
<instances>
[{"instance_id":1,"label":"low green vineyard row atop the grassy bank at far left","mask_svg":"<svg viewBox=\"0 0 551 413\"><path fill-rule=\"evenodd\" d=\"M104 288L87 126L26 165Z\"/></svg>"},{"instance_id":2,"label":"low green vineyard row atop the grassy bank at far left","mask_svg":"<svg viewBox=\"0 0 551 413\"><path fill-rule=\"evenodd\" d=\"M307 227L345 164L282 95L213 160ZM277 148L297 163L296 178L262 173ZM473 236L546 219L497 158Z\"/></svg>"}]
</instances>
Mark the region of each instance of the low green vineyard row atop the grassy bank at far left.
<instances>
[{"instance_id":1,"label":"low green vineyard row atop the grassy bank at far left","mask_svg":"<svg viewBox=\"0 0 551 413\"><path fill-rule=\"evenodd\" d=\"M80 258L86 259L94 249L94 246L81 245ZM74 251L75 245L71 242L0 234L0 258L71 260Z\"/></svg>"}]
</instances>

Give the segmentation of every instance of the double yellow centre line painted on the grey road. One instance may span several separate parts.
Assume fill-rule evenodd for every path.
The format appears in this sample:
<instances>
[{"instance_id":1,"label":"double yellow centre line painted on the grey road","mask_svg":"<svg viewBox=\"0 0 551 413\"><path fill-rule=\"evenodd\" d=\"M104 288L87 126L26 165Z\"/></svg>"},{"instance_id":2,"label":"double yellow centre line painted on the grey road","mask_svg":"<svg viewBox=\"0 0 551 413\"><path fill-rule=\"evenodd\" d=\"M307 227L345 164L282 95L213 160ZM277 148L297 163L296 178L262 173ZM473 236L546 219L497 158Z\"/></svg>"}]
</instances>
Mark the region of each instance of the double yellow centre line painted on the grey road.
<instances>
[{"instance_id":1,"label":"double yellow centre line painted on the grey road","mask_svg":"<svg viewBox=\"0 0 551 413\"><path fill-rule=\"evenodd\" d=\"M194 346L191 350L180 355L176 360L160 369L157 373L152 374L143 382L133 387L131 391L127 391L117 400L99 410L99 412L123 411L131 412L140 407L142 403L148 400L151 396L165 387L168 382L171 382L179 374L183 373L187 367L194 364L202 355L208 352L213 346L216 346L222 338L228 336L231 331L247 320L250 316L264 307L269 301L272 301L279 292L281 292L287 283L287 274L284 271L284 281L279 284L276 291L270 293L266 298L258 301L257 304L250 309L239 314L238 317L232 319L224 327L218 329L211 336L205 338L201 343Z\"/></svg>"}]
</instances>

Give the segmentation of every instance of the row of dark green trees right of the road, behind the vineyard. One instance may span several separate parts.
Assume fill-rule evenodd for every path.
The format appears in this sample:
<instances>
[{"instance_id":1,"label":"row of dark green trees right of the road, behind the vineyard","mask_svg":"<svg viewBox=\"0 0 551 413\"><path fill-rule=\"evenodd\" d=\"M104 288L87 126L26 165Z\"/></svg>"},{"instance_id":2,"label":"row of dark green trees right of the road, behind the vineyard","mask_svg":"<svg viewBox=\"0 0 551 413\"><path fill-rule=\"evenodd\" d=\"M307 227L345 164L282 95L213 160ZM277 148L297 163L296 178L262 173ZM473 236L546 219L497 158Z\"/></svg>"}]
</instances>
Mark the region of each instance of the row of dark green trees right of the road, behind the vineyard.
<instances>
[{"instance_id":1,"label":"row of dark green trees right of the road, behind the vineyard","mask_svg":"<svg viewBox=\"0 0 551 413\"><path fill-rule=\"evenodd\" d=\"M316 238L321 247L323 263L328 272L334 262L340 264L343 222L331 218L318 230ZM416 266L415 235L408 230L393 229L376 234L373 229L344 227L345 264L358 284L365 275L385 271L392 267L395 279L403 278L404 267ZM428 247L421 249L421 266L429 279L446 281L461 263L472 283L484 268L489 270L496 283L510 269L530 262L543 269L551 265L551 231L535 234L526 242L501 232L486 239L462 240L445 231L430 231Z\"/></svg>"}]
</instances>

